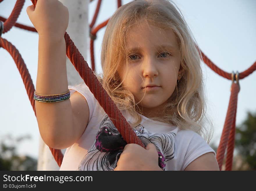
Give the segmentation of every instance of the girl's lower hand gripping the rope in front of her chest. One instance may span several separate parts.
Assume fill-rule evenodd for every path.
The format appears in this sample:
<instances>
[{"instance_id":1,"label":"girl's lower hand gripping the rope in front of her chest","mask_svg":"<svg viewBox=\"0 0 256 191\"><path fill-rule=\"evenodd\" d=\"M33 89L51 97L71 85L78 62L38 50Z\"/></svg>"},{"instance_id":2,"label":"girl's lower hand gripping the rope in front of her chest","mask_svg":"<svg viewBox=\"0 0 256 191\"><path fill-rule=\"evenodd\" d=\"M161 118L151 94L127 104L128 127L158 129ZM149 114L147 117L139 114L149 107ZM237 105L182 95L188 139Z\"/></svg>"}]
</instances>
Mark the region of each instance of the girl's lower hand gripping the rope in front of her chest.
<instances>
[{"instance_id":1,"label":"girl's lower hand gripping the rope in front of her chest","mask_svg":"<svg viewBox=\"0 0 256 191\"><path fill-rule=\"evenodd\" d=\"M125 145L114 170L162 170L155 145L149 143L146 149L137 144Z\"/></svg>"}]
</instances>

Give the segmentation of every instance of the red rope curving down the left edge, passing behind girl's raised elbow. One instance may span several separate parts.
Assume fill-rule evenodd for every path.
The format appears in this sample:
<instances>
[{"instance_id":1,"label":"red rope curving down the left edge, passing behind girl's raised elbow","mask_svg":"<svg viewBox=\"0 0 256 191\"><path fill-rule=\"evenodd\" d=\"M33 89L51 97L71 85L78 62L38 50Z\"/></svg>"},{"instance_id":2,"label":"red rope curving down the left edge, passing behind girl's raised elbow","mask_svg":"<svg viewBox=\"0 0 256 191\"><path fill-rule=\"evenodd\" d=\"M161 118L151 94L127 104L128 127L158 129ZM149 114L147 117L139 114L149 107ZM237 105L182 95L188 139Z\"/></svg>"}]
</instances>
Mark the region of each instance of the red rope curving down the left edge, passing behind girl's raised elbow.
<instances>
[{"instance_id":1,"label":"red rope curving down the left edge, passing behind girl's raised elbow","mask_svg":"<svg viewBox=\"0 0 256 191\"><path fill-rule=\"evenodd\" d=\"M3 39L1 37L0 37L0 47L3 47L4 49L6 49L10 53L10 55L13 57L13 60L22 77L22 81L24 83L26 92L29 96L30 103L32 105L32 108L36 116L35 100L34 100L35 87L33 85L33 81L31 79L29 71L26 68L26 64L24 63L24 60L22 59L21 55L19 54L19 51L15 48L15 46L13 46L12 43L8 42L6 39ZM58 163L58 165L61 166L62 159L63 159L63 154L61 153L61 150L53 149L53 148L50 148L50 150L52 155L54 156L54 159Z\"/></svg>"}]
</instances>

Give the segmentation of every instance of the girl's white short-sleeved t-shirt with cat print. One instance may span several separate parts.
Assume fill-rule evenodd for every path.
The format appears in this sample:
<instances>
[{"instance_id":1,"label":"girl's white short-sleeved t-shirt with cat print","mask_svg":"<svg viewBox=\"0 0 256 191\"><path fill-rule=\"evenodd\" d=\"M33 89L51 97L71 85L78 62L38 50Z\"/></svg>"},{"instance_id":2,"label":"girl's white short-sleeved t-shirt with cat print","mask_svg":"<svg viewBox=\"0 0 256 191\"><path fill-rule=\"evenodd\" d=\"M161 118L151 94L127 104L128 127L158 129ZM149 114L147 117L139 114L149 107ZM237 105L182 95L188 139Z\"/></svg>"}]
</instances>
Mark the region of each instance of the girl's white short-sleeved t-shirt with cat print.
<instances>
[{"instance_id":1,"label":"girl's white short-sleeved t-shirt with cat print","mask_svg":"<svg viewBox=\"0 0 256 191\"><path fill-rule=\"evenodd\" d=\"M77 91L86 98L89 121L80 139L66 149L60 170L113 170L126 142L86 84L69 89L71 94ZM126 111L121 112L128 122L133 120ZM156 146L163 170L184 170L202 154L215 154L197 133L145 116L134 131L145 145Z\"/></svg>"}]
</instances>

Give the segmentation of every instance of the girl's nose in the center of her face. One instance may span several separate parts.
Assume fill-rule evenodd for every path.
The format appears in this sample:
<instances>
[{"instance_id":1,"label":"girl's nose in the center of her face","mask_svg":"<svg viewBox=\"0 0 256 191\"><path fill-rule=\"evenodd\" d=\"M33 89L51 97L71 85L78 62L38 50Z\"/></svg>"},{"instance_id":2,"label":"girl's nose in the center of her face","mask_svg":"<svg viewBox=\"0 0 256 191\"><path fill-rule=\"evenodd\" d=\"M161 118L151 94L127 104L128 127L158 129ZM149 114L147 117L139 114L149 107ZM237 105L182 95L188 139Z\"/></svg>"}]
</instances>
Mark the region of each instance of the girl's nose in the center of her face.
<instances>
[{"instance_id":1,"label":"girl's nose in the center of her face","mask_svg":"<svg viewBox=\"0 0 256 191\"><path fill-rule=\"evenodd\" d=\"M145 59L142 63L142 70L144 77L158 76L157 61L154 59Z\"/></svg>"}]
</instances>

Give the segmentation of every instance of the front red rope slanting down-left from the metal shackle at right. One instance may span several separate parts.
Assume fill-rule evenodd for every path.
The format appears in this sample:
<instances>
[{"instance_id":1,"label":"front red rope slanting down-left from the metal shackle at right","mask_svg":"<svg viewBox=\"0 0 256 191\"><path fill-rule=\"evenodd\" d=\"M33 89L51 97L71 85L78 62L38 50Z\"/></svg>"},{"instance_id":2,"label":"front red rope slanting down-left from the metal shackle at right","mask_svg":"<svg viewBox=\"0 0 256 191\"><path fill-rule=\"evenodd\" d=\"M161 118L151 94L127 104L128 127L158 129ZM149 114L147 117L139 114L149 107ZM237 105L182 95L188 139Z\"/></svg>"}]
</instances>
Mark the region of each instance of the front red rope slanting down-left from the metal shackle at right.
<instances>
[{"instance_id":1,"label":"front red rope slanting down-left from the metal shackle at right","mask_svg":"<svg viewBox=\"0 0 256 191\"><path fill-rule=\"evenodd\" d=\"M232 83L230 101L227 109L227 116L225 119L224 128L221 134L221 141L219 143L216 156L220 170L223 164L224 154L227 146L227 141L230 135L230 130L232 128L232 125L235 123L235 117L237 112L237 96L239 90L239 85L237 83Z\"/></svg>"}]
</instances>

